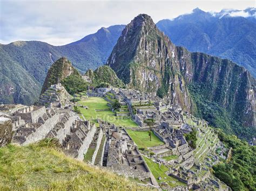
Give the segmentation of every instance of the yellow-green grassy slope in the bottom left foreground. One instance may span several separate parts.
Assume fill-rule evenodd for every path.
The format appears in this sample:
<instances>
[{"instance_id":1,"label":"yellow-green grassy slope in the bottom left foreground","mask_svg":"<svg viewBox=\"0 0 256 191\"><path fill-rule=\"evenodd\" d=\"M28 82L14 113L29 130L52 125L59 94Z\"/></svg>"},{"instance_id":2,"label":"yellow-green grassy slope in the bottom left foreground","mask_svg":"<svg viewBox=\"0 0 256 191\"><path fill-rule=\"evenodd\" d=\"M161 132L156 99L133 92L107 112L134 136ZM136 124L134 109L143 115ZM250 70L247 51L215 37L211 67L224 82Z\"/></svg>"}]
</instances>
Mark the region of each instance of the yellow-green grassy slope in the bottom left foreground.
<instances>
[{"instance_id":1,"label":"yellow-green grassy slope in the bottom left foreground","mask_svg":"<svg viewBox=\"0 0 256 191\"><path fill-rule=\"evenodd\" d=\"M53 142L0 148L0 190L149 189L67 157Z\"/></svg>"}]
</instances>

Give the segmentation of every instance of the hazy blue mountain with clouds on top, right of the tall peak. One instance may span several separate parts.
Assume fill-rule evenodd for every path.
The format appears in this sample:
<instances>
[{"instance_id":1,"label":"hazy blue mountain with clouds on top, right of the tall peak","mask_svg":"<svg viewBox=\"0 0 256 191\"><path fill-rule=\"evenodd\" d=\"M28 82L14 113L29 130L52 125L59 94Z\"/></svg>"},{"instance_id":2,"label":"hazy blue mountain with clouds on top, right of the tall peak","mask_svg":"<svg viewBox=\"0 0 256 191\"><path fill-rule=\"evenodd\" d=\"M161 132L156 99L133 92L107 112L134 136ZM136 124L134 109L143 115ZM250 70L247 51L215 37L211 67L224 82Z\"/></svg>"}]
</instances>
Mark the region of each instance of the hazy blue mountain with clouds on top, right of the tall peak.
<instances>
[{"instance_id":1,"label":"hazy blue mountain with clouds on top, right of the tall peak","mask_svg":"<svg viewBox=\"0 0 256 191\"><path fill-rule=\"evenodd\" d=\"M204 52L244 66L256 77L255 8L248 8L250 17L232 17L238 10L218 13L194 9L175 19L160 20L157 26L174 44L191 52Z\"/></svg>"}]
</instances>

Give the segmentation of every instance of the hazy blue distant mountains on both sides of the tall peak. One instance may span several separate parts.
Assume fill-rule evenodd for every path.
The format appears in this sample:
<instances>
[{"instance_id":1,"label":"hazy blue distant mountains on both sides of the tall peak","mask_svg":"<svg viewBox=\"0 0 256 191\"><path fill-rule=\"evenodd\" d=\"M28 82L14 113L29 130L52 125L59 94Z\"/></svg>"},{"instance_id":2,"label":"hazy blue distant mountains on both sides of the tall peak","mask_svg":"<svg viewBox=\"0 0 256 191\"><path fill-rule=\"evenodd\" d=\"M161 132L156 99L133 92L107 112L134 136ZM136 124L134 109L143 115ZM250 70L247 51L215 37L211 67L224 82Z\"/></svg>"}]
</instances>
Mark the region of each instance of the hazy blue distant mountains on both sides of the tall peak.
<instances>
[{"instance_id":1,"label":"hazy blue distant mountains on both sides of the tall peak","mask_svg":"<svg viewBox=\"0 0 256 191\"><path fill-rule=\"evenodd\" d=\"M243 17L237 17L239 15ZM255 8L218 13L195 9L173 20L160 20L157 26L174 44L192 52L228 58L256 76ZM124 27L103 27L95 34L64 46L41 41L0 44L0 103L35 102L48 69L62 56L83 73L104 65Z\"/></svg>"}]
</instances>

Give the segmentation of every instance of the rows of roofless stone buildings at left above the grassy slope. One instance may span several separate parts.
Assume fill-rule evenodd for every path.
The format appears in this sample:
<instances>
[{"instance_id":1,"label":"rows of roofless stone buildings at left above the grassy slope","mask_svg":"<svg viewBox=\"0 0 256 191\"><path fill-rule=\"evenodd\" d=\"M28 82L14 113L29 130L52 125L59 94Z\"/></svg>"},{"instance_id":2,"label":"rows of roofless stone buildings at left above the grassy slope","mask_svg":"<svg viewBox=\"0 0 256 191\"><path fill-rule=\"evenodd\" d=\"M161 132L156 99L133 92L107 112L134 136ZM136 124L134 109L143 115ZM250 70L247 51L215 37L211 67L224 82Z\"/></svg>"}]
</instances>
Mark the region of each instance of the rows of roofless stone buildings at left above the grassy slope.
<instances>
[{"instance_id":1,"label":"rows of roofless stone buildings at left above the grassy slope","mask_svg":"<svg viewBox=\"0 0 256 191\"><path fill-rule=\"evenodd\" d=\"M1 139L0 143L4 142L1 146L10 141L28 145L44 138L57 138L65 153L83 160L96 132L95 124L81 121L72 110L31 105L12 111L10 115L5 114L6 118L0 117L0 125L10 123L9 131L6 132L11 135L9 138L3 136L8 141Z\"/></svg>"}]
</instances>

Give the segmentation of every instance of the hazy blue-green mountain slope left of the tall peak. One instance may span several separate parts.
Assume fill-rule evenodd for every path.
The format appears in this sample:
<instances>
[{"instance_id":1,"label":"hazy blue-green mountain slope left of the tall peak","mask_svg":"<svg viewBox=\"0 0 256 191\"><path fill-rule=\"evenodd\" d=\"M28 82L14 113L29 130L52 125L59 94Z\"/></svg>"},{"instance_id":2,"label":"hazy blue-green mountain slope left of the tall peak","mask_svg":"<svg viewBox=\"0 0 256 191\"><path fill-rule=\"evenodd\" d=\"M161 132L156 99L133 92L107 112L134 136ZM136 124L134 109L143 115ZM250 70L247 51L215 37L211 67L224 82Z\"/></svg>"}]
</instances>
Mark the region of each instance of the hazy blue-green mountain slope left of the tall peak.
<instances>
[{"instance_id":1,"label":"hazy blue-green mountain slope left of the tall peak","mask_svg":"<svg viewBox=\"0 0 256 191\"><path fill-rule=\"evenodd\" d=\"M48 69L66 56L80 71L105 63L124 25L102 27L95 34L64 46L41 41L0 44L0 102L32 104L39 96ZM29 86L28 86L29 84Z\"/></svg>"}]
</instances>

